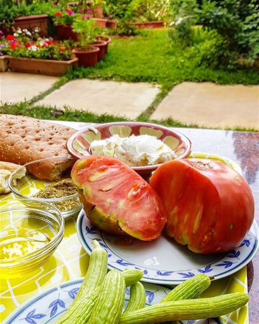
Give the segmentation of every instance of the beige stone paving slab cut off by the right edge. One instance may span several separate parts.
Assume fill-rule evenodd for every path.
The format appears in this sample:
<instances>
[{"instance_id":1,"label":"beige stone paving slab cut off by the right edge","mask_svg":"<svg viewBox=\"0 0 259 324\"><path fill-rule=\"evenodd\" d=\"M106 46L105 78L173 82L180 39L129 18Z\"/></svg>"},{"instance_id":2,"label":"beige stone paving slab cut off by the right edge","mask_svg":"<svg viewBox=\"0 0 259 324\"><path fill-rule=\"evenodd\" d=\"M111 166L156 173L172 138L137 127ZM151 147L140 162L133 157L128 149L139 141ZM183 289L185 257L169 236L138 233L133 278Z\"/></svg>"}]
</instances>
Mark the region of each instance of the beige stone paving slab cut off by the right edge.
<instances>
[{"instance_id":1,"label":"beige stone paving slab cut off by the right edge","mask_svg":"<svg viewBox=\"0 0 259 324\"><path fill-rule=\"evenodd\" d=\"M212 128L259 129L259 86L183 82L151 115L152 119L167 117Z\"/></svg>"}]
</instances>

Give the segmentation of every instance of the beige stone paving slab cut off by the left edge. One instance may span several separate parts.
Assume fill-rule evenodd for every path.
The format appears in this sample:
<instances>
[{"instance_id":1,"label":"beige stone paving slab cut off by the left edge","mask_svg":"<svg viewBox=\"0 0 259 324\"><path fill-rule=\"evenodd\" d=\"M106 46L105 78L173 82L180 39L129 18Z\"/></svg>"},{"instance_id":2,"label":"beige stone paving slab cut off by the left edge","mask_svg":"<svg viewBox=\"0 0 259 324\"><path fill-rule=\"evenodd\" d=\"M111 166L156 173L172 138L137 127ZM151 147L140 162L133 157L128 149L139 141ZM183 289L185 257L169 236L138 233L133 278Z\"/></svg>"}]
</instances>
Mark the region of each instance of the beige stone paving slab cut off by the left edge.
<instances>
[{"instance_id":1,"label":"beige stone paving slab cut off by the left edge","mask_svg":"<svg viewBox=\"0 0 259 324\"><path fill-rule=\"evenodd\" d=\"M57 77L30 73L0 73L0 101L20 102L30 100L51 88Z\"/></svg>"}]
</instances>

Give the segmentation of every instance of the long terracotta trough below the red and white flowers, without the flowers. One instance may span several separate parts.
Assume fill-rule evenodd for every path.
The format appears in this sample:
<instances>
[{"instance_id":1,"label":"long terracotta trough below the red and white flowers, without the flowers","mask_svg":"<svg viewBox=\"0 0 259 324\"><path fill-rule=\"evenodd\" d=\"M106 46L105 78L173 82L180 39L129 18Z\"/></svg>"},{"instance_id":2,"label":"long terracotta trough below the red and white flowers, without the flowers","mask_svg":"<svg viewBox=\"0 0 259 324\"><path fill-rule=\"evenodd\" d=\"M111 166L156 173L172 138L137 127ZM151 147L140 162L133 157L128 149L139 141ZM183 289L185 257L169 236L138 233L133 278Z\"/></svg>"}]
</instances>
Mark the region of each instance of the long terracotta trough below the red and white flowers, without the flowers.
<instances>
[{"instance_id":1,"label":"long terracotta trough below the red and white flowers, without the flowers","mask_svg":"<svg viewBox=\"0 0 259 324\"><path fill-rule=\"evenodd\" d=\"M10 69L16 72L59 76L77 64L77 58L69 61L41 60L27 57L10 57Z\"/></svg>"}]
</instances>

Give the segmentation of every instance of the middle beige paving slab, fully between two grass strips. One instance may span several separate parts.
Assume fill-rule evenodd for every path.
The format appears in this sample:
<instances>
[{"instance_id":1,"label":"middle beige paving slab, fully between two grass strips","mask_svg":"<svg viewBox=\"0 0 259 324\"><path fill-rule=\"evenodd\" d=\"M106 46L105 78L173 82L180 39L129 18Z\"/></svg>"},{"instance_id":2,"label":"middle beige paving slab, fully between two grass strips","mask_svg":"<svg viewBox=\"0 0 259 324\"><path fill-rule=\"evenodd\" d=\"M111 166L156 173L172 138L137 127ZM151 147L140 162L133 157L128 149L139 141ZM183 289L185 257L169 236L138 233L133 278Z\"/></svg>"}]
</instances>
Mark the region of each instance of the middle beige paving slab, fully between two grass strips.
<instances>
[{"instance_id":1,"label":"middle beige paving slab, fully between two grass strips","mask_svg":"<svg viewBox=\"0 0 259 324\"><path fill-rule=\"evenodd\" d=\"M69 106L76 110L134 119L152 103L158 92L157 86L142 82L77 79L38 101L37 105Z\"/></svg>"}]
</instances>

